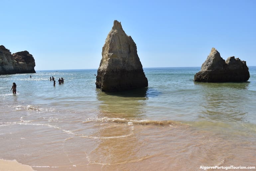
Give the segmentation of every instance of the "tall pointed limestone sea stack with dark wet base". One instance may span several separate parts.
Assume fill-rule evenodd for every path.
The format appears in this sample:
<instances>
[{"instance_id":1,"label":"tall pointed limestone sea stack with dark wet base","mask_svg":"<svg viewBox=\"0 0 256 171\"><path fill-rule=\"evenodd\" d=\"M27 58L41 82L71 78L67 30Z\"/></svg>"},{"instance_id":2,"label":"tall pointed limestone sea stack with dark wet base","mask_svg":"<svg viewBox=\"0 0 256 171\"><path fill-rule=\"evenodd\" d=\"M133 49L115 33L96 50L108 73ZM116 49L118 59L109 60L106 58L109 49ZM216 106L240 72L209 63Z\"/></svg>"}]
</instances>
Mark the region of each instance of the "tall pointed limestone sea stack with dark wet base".
<instances>
[{"instance_id":1,"label":"tall pointed limestone sea stack with dark wet base","mask_svg":"<svg viewBox=\"0 0 256 171\"><path fill-rule=\"evenodd\" d=\"M106 92L148 86L148 79L137 54L137 46L116 20L102 47L102 59L95 84Z\"/></svg>"}]
</instances>

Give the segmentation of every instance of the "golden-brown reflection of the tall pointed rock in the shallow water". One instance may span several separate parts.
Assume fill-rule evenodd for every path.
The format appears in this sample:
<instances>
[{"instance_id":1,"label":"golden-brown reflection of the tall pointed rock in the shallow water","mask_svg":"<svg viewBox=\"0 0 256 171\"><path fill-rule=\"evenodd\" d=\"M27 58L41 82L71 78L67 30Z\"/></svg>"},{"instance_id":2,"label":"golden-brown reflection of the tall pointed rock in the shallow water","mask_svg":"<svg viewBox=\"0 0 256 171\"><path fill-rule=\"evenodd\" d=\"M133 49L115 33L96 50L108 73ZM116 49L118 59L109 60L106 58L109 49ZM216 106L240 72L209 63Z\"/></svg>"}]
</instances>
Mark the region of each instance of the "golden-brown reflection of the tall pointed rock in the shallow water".
<instances>
[{"instance_id":1,"label":"golden-brown reflection of the tall pointed rock in the shallow water","mask_svg":"<svg viewBox=\"0 0 256 171\"><path fill-rule=\"evenodd\" d=\"M90 160L104 167L125 165L140 161L145 153L140 152L142 140L134 128L132 120L143 118L148 97L147 88L106 93L96 90L99 105L98 118L105 118L97 125L94 136L100 137L99 144L90 153ZM120 122L119 122L120 121ZM102 167L103 167L102 166ZM110 168L109 168L110 169Z\"/></svg>"}]
</instances>

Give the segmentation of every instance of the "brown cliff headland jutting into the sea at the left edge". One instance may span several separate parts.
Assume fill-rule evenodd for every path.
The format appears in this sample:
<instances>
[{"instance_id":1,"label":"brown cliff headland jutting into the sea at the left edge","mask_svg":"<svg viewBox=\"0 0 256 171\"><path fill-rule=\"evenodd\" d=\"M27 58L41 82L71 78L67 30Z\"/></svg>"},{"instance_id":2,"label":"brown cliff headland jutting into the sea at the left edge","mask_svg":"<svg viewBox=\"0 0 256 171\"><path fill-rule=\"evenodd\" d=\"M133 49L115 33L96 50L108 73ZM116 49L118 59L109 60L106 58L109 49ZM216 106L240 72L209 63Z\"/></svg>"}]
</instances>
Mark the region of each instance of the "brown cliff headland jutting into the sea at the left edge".
<instances>
[{"instance_id":1,"label":"brown cliff headland jutting into the sea at the left edge","mask_svg":"<svg viewBox=\"0 0 256 171\"><path fill-rule=\"evenodd\" d=\"M35 73L35 59L28 51L11 54L0 46L0 74Z\"/></svg>"}]
</instances>

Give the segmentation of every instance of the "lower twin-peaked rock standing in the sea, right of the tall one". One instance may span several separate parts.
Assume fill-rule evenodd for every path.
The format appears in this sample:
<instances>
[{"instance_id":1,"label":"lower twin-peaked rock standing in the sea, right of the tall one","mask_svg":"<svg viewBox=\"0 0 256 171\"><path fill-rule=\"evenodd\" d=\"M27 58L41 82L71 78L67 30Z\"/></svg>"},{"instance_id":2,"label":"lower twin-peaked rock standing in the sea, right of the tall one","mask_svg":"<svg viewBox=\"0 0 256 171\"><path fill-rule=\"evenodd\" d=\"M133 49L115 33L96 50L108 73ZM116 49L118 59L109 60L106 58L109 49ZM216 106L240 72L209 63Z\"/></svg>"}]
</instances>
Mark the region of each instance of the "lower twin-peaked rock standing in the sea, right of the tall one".
<instances>
[{"instance_id":1,"label":"lower twin-peaked rock standing in the sea, right of the tall one","mask_svg":"<svg viewBox=\"0 0 256 171\"><path fill-rule=\"evenodd\" d=\"M249 78L249 69L245 61L234 56L228 57L225 61L215 48L211 49L201 70L194 75L194 81L198 82L242 82Z\"/></svg>"}]
</instances>

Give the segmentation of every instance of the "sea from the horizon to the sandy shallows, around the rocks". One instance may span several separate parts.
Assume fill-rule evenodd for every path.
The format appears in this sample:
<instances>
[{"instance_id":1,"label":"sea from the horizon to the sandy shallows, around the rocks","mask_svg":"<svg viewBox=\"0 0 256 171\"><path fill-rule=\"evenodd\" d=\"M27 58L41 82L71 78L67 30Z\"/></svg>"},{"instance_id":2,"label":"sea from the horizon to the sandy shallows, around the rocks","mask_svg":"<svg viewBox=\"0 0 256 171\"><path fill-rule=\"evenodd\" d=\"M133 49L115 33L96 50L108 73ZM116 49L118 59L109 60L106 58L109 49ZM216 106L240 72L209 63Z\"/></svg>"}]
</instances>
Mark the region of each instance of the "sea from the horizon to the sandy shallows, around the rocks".
<instances>
[{"instance_id":1,"label":"sea from the horizon to the sandy shallows, around the rocks","mask_svg":"<svg viewBox=\"0 0 256 171\"><path fill-rule=\"evenodd\" d=\"M256 166L256 67L242 83L194 82L199 70L144 68L149 86L119 93L96 88L97 69L0 75L0 159L38 171Z\"/></svg>"}]
</instances>

